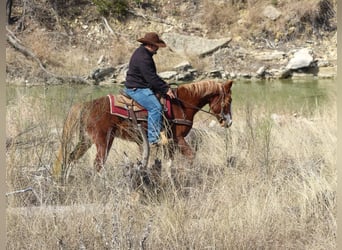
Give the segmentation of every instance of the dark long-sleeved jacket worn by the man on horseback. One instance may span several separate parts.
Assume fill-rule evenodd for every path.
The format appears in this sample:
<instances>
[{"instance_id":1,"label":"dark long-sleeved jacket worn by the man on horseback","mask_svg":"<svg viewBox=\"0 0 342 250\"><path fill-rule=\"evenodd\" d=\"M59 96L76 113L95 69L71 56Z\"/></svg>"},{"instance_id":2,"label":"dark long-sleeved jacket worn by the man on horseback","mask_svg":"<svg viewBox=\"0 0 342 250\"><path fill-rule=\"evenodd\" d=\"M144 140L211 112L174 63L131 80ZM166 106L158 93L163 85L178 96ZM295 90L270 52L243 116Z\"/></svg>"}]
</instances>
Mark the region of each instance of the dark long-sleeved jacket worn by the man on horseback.
<instances>
[{"instance_id":1,"label":"dark long-sleeved jacket worn by the man on horseback","mask_svg":"<svg viewBox=\"0 0 342 250\"><path fill-rule=\"evenodd\" d=\"M143 45L134 51L126 76L127 88L150 88L155 93L166 94L169 85L157 75L152 57L153 54Z\"/></svg>"}]
</instances>

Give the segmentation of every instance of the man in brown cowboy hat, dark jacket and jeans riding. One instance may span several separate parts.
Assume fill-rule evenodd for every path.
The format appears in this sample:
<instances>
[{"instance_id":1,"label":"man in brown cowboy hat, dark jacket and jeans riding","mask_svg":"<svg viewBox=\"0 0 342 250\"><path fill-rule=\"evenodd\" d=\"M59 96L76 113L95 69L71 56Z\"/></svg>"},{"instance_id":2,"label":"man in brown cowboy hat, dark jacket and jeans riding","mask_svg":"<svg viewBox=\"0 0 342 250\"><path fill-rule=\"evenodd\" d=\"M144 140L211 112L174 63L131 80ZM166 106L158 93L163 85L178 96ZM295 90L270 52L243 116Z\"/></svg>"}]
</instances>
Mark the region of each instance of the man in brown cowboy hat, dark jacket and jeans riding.
<instances>
[{"instance_id":1,"label":"man in brown cowboy hat, dark jacket and jeans riding","mask_svg":"<svg viewBox=\"0 0 342 250\"><path fill-rule=\"evenodd\" d=\"M162 128L162 106L155 94L168 95L175 98L170 86L158 75L153 55L166 44L155 32L146 33L137 40L142 43L129 62L125 92L148 111L147 138L150 145L160 143Z\"/></svg>"}]
</instances>

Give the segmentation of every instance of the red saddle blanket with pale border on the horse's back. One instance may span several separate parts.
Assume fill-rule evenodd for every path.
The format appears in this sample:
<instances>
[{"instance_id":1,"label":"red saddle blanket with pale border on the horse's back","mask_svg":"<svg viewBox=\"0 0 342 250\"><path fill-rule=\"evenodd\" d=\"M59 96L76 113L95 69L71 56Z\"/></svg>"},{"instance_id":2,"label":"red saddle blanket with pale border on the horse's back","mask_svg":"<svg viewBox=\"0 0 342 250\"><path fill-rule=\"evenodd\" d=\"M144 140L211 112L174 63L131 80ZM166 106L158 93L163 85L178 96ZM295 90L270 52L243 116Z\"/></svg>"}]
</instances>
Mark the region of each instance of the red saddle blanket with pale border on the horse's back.
<instances>
[{"instance_id":1,"label":"red saddle blanket with pale border on the horse's back","mask_svg":"<svg viewBox=\"0 0 342 250\"><path fill-rule=\"evenodd\" d=\"M131 118L129 110L133 108L135 116L138 120L147 120L147 110L140 106L133 99L124 95L107 95L110 102L110 113L123 118ZM170 99L165 99L164 113L167 119L172 119Z\"/></svg>"}]
</instances>

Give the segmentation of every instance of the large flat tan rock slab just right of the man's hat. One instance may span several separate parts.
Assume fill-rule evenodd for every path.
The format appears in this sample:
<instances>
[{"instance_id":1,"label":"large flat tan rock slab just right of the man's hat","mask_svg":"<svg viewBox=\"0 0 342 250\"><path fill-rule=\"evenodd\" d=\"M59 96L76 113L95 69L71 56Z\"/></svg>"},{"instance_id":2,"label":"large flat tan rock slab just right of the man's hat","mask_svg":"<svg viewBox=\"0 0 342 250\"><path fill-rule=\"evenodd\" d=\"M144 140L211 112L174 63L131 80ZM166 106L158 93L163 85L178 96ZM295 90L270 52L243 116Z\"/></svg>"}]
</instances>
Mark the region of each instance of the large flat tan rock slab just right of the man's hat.
<instances>
[{"instance_id":1,"label":"large flat tan rock slab just right of the man's hat","mask_svg":"<svg viewBox=\"0 0 342 250\"><path fill-rule=\"evenodd\" d=\"M176 53L182 55L205 56L226 46L232 39L207 39L198 36L187 36L178 33L164 33L162 39Z\"/></svg>"}]
</instances>

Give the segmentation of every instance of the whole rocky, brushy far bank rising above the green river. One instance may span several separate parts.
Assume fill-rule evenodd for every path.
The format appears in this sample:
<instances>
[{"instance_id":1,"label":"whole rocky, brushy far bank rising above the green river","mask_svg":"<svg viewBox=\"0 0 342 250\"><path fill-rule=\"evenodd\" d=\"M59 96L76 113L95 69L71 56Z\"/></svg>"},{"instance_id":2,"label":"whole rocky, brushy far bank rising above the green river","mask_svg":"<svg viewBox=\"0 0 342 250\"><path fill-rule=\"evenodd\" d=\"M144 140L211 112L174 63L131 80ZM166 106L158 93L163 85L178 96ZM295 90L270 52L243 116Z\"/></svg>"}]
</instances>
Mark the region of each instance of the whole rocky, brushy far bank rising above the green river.
<instances>
[{"instance_id":1,"label":"whole rocky, brushy far bank rising above the green river","mask_svg":"<svg viewBox=\"0 0 342 250\"><path fill-rule=\"evenodd\" d=\"M164 2L159 2L159 12L142 5L132 7L130 17L124 22L95 15L91 4L86 4L78 15L73 16L58 15L54 9L42 4L39 7L46 8L46 20L37 19L40 10L34 8L37 6L29 6L31 9L26 7L24 15L23 6L17 4L14 7L17 19L6 27L7 82L26 85L122 83L129 57L138 46L136 39L152 30L161 34L168 44L168 48L155 57L160 76L168 82L181 83L204 78L336 77L334 1L319 1L311 7L311 12L302 12L304 17L321 17L326 16L327 9L330 11L324 22L318 22L322 23L322 27L315 27L315 22L311 21L308 25L313 25L311 31L302 28L305 35L300 35L300 29L295 26L305 22L302 17L285 29L274 28L275 24L279 26L282 17L283 21L286 20L284 16L289 14L285 11L291 4L294 5L292 1L278 3L277 6L260 1L255 7L258 8L260 25L251 31L246 27L253 27L251 23L247 25L253 9L247 9L247 15L243 14L247 10L241 7L239 18L231 18L235 18L235 22L222 19L216 26L210 27L209 21L205 23L201 18L224 17L218 10L227 8L231 11L233 5L218 1L223 3L215 3L217 13L208 17L210 11L205 9L205 1L198 1L200 4L197 5L194 4L196 1L176 1L180 5L171 7L179 8L177 15L165 14L165 6L170 7L170 3L163 6ZM211 25L215 25L210 18ZM242 27L244 32L239 33ZM267 27L270 30L265 30ZM291 36L286 32L292 32Z\"/></svg>"}]
</instances>

